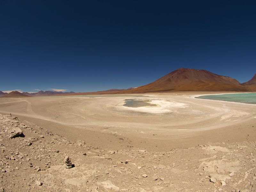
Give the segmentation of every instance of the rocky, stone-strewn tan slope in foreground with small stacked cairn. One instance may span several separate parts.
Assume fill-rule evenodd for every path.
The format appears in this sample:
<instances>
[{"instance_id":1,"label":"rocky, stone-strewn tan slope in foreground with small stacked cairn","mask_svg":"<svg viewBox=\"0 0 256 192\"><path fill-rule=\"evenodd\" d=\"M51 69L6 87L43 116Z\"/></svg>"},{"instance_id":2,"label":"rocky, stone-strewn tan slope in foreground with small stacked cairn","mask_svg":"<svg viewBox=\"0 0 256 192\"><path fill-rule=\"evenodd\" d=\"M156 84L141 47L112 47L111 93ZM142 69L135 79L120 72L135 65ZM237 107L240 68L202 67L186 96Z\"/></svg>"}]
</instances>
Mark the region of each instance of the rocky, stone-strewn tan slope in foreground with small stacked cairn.
<instances>
[{"instance_id":1,"label":"rocky, stone-strewn tan slope in foreground with small stacked cairn","mask_svg":"<svg viewBox=\"0 0 256 192\"><path fill-rule=\"evenodd\" d=\"M0 145L0 191L256 191L255 142L105 149L0 115Z\"/></svg>"}]
</instances>

